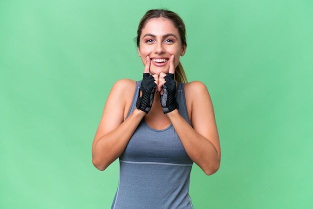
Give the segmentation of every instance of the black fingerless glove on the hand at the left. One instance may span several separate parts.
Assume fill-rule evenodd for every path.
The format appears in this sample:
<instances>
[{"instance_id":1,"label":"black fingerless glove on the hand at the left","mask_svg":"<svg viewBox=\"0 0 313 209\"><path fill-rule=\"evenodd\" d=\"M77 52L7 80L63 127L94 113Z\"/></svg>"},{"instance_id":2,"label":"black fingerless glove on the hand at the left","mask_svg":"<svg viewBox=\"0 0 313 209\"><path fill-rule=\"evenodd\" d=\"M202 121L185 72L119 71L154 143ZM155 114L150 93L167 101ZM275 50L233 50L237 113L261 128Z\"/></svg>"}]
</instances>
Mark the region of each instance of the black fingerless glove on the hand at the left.
<instances>
[{"instance_id":1,"label":"black fingerless glove on the hand at the left","mask_svg":"<svg viewBox=\"0 0 313 209\"><path fill-rule=\"evenodd\" d=\"M152 106L154 89L156 87L156 83L154 81L155 80L152 75L150 75L149 73L143 73L136 107L138 109L141 109L145 113L148 113Z\"/></svg>"}]
</instances>

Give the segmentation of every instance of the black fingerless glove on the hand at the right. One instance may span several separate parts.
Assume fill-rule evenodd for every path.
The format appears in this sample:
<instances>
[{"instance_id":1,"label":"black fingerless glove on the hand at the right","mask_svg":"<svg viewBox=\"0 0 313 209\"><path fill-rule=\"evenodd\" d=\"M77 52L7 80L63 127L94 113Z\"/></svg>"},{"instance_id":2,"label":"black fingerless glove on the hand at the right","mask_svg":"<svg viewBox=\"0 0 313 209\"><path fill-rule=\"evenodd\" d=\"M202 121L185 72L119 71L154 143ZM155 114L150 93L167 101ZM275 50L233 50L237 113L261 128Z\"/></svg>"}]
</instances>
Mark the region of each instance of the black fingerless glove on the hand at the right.
<instances>
[{"instance_id":1,"label":"black fingerless glove on the hand at the right","mask_svg":"<svg viewBox=\"0 0 313 209\"><path fill-rule=\"evenodd\" d=\"M163 95L160 96L160 100L165 114L178 108L178 105L176 103L176 81L174 80L174 74L168 73L164 78L166 82L163 84Z\"/></svg>"}]
</instances>

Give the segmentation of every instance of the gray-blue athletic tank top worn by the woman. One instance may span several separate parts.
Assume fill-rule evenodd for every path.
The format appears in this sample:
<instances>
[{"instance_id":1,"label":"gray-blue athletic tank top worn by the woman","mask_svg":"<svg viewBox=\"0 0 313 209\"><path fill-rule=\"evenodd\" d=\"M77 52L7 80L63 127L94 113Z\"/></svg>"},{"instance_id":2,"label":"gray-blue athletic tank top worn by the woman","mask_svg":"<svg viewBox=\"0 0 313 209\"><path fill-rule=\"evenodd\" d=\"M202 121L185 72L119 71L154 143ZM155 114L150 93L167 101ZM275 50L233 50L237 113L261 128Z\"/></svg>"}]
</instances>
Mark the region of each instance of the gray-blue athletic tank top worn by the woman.
<instances>
[{"instance_id":1,"label":"gray-blue athletic tank top worn by the woman","mask_svg":"<svg viewBox=\"0 0 313 209\"><path fill-rule=\"evenodd\" d=\"M136 108L140 83L127 116ZM178 111L191 125L183 87L177 84ZM119 157L119 182L111 208L193 208L188 194L192 163L172 124L156 130L143 118Z\"/></svg>"}]
</instances>

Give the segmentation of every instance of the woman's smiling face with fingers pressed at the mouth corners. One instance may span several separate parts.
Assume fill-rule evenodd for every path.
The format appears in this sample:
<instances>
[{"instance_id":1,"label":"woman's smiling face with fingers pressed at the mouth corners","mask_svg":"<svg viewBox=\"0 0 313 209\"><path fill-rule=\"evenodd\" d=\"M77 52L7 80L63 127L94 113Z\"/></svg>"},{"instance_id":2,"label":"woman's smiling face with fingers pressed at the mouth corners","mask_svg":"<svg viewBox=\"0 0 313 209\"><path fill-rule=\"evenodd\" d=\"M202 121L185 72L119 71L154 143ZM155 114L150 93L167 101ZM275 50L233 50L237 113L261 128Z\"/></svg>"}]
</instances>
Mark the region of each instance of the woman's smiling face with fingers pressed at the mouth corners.
<instances>
[{"instance_id":1,"label":"woman's smiling face with fingers pressed at the mouth corners","mask_svg":"<svg viewBox=\"0 0 313 209\"><path fill-rule=\"evenodd\" d=\"M179 56L183 56L185 50L178 29L169 19L151 18L141 30L138 55L143 65L146 63L146 56L150 57L150 74L168 73L170 56L175 56L176 67Z\"/></svg>"}]
</instances>

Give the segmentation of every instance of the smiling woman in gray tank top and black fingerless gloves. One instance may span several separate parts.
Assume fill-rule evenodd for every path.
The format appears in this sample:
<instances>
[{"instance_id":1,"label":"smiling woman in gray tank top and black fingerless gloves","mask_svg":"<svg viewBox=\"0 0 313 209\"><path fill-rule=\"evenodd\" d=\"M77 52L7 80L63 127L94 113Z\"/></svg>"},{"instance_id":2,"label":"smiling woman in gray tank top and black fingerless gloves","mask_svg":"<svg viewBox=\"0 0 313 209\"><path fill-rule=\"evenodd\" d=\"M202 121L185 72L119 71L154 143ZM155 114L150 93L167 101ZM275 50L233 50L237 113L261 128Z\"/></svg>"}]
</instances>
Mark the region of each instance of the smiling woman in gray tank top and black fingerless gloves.
<instances>
[{"instance_id":1,"label":"smiling woman in gray tank top and black fingerless gloves","mask_svg":"<svg viewBox=\"0 0 313 209\"><path fill-rule=\"evenodd\" d=\"M192 208L192 163L210 175L220 162L210 96L202 82L185 82L179 62L187 46L185 26L176 13L147 11L136 40L143 78L113 85L94 136L92 162L104 170L119 158L112 208Z\"/></svg>"}]
</instances>

